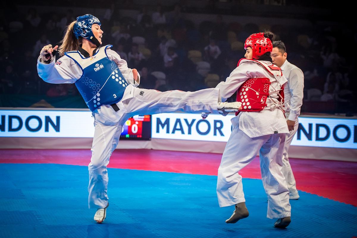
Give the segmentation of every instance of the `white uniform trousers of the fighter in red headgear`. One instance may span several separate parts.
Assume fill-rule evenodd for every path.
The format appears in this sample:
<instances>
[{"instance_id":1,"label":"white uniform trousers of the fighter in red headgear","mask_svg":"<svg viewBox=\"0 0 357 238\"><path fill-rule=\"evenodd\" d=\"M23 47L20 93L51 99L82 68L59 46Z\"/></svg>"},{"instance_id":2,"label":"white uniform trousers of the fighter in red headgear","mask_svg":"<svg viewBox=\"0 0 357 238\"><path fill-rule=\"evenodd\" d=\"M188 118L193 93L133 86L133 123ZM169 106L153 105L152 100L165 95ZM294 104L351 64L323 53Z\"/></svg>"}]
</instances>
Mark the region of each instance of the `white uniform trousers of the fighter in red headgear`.
<instances>
[{"instance_id":1,"label":"white uniform trousers of the fighter in red headgear","mask_svg":"<svg viewBox=\"0 0 357 238\"><path fill-rule=\"evenodd\" d=\"M239 117L239 115L238 115ZM267 217L271 219L291 216L289 191L282 169L284 133L250 138L239 128L235 117L232 134L227 142L218 168L217 197L220 207L245 202L242 176L238 173L260 152L262 182L268 196Z\"/></svg>"}]
</instances>

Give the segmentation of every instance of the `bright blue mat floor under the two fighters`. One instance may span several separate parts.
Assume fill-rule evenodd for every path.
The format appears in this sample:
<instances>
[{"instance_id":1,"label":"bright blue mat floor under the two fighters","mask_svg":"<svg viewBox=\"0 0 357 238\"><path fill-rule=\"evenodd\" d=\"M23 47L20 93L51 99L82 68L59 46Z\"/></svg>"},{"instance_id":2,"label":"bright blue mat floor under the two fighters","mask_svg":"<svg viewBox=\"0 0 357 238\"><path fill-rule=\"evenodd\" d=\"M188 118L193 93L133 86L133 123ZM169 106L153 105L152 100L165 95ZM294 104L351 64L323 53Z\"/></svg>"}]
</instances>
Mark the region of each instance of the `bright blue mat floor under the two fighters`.
<instances>
[{"instance_id":1,"label":"bright blue mat floor under the two fighters","mask_svg":"<svg viewBox=\"0 0 357 238\"><path fill-rule=\"evenodd\" d=\"M259 179L243 179L250 216L226 224L216 176L109 169L105 223L87 207L88 171L61 164L0 164L0 237L352 237L357 207L300 192L292 223L273 227Z\"/></svg>"}]
</instances>

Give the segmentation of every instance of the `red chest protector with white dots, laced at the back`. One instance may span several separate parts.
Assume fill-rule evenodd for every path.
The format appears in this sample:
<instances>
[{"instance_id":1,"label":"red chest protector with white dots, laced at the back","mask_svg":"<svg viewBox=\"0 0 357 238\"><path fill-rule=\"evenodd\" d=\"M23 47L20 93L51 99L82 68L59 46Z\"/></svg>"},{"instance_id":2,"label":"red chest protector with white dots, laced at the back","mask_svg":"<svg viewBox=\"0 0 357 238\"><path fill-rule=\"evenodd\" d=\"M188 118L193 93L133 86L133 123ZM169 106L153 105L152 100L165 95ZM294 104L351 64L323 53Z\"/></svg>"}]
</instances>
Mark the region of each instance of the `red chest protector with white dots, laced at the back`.
<instances>
[{"instance_id":1,"label":"red chest protector with white dots, laced at the back","mask_svg":"<svg viewBox=\"0 0 357 238\"><path fill-rule=\"evenodd\" d=\"M248 60L248 59L241 59L238 62L237 66L239 66L242 60ZM263 64L258 60L251 60L251 61L254 61L262 65L264 69L273 76L274 74L273 72L271 72L271 70L279 70L280 74L282 75L281 69L275 65ZM268 78L253 78L245 81L237 90L237 102L242 102L242 110L240 111L243 112L262 111L264 107L267 106L266 101L269 96L270 84L271 82L270 79ZM283 87L280 88L279 94L282 96L282 97L279 96L278 98L280 102L281 100L284 100ZM236 112L236 115L238 115L240 111Z\"/></svg>"}]
</instances>

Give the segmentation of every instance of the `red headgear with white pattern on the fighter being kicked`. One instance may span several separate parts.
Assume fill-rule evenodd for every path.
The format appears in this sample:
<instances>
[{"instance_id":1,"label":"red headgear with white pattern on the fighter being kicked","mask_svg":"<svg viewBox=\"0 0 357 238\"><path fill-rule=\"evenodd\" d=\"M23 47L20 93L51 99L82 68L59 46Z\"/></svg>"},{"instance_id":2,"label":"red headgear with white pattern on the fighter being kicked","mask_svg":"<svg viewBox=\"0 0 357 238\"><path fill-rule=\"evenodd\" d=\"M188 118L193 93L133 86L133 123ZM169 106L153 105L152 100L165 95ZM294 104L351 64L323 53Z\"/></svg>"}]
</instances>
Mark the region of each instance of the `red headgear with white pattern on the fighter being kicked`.
<instances>
[{"instance_id":1,"label":"red headgear with white pattern on the fighter being kicked","mask_svg":"<svg viewBox=\"0 0 357 238\"><path fill-rule=\"evenodd\" d=\"M263 32L250 35L244 43L244 49L246 50L248 46L252 47L253 59L256 60L259 56L273 50L273 43L269 38L264 37Z\"/></svg>"}]
</instances>

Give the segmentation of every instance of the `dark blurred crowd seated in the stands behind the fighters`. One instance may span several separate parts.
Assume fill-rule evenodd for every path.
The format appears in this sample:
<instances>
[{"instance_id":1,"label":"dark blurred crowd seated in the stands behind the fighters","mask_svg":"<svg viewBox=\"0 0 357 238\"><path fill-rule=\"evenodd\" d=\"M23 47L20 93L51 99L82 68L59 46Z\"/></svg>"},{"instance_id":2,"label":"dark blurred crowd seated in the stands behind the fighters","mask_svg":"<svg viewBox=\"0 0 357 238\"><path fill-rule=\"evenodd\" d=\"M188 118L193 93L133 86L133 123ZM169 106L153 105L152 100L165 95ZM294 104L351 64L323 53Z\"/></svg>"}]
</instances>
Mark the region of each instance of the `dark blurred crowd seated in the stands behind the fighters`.
<instances>
[{"instance_id":1,"label":"dark blurred crowd seated in the stands behind the fighters","mask_svg":"<svg viewBox=\"0 0 357 238\"><path fill-rule=\"evenodd\" d=\"M139 14L131 17L121 17L119 9L111 4L103 15L96 15L104 31L103 45L113 45L112 49L128 66L139 71L139 87L160 91L215 87L244 57L245 39L252 33L270 30L276 40L285 43L287 59L304 72L304 103L331 102L335 107L342 105L341 110L356 111L353 53L357 34L347 25L287 27L270 25L268 20L257 25L226 21L225 15L212 15L211 21L196 24L185 19L188 10L181 4L143 6ZM51 85L42 81L36 71L41 48L62 39L65 27L75 20L73 11L39 14L30 8L26 15L21 15L15 8L2 15L1 94L79 95L75 85ZM346 42L352 43L346 45ZM229 100L234 98L235 95Z\"/></svg>"}]
</instances>

